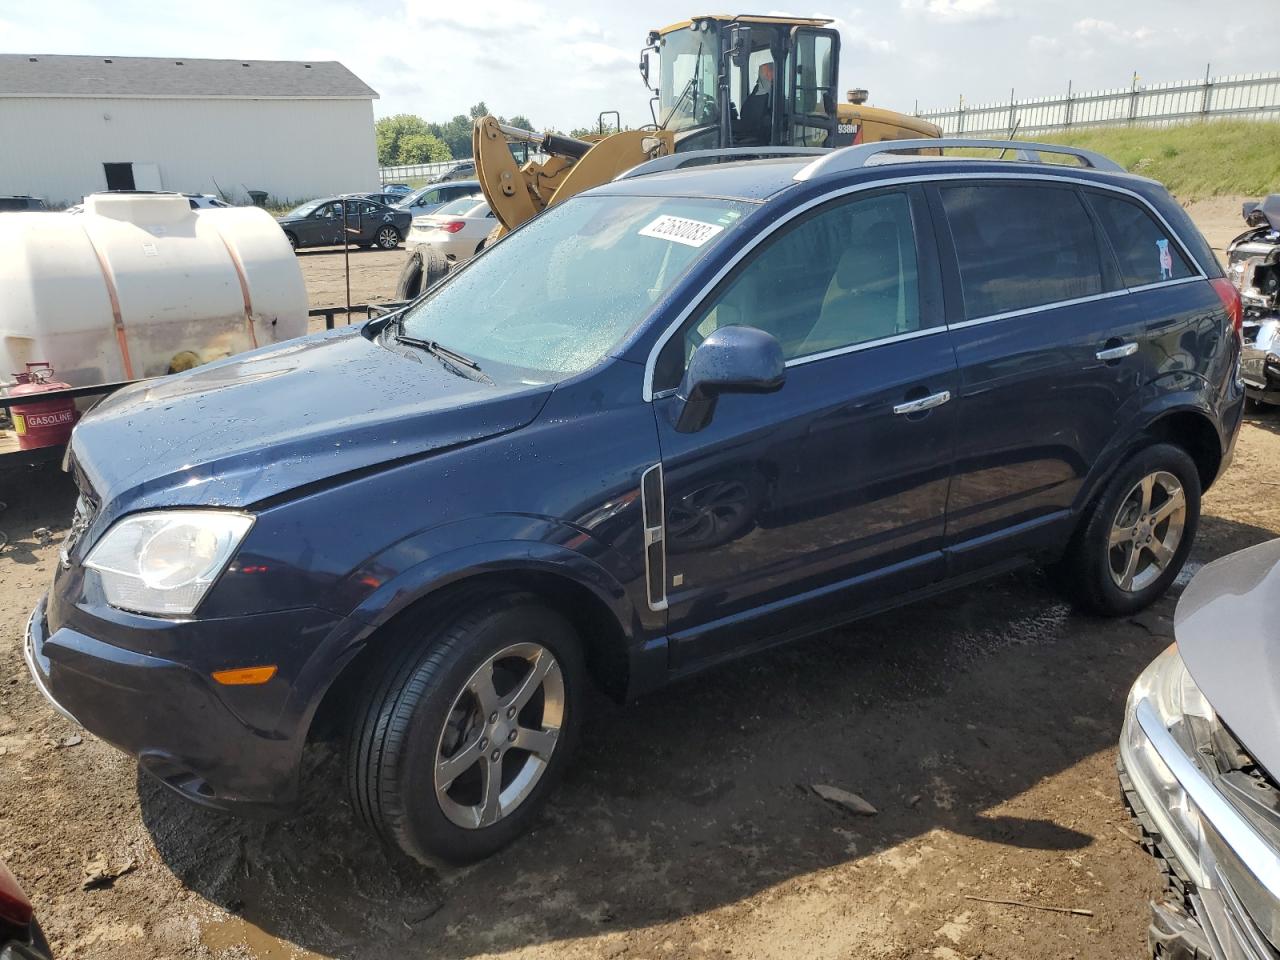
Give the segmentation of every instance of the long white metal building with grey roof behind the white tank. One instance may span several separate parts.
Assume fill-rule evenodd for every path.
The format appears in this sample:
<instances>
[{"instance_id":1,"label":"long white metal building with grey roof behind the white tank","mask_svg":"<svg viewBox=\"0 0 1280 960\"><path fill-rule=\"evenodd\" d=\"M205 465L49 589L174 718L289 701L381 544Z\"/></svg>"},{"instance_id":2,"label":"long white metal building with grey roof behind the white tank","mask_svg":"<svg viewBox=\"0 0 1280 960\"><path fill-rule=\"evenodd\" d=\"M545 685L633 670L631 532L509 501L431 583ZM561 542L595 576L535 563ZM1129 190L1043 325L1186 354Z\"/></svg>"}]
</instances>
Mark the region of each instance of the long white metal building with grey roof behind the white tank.
<instances>
[{"instance_id":1,"label":"long white metal building with grey roof behind the white tank","mask_svg":"<svg viewBox=\"0 0 1280 960\"><path fill-rule=\"evenodd\" d=\"M0 195L378 189L376 97L332 60L0 54Z\"/></svg>"}]
</instances>

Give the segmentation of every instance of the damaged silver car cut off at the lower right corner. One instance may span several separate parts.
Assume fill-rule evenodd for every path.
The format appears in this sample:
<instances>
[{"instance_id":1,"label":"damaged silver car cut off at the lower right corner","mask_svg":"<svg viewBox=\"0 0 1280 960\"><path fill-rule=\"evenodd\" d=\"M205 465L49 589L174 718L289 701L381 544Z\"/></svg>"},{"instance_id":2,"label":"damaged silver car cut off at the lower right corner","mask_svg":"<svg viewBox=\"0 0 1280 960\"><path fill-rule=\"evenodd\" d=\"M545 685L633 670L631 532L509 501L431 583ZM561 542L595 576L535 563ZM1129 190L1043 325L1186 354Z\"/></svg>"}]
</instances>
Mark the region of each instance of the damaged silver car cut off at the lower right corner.
<instances>
[{"instance_id":1,"label":"damaged silver car cut off at the lower right corner","mask_svg":"<svg viewBox=\"0 0 1280 960\"><path fill-rule=\"evenodd\" d=\"M1280 540L1201 570L1134 684L1120 783L1164 868L1158 957L1280 956Z\"/></svg>"}]
</instances>

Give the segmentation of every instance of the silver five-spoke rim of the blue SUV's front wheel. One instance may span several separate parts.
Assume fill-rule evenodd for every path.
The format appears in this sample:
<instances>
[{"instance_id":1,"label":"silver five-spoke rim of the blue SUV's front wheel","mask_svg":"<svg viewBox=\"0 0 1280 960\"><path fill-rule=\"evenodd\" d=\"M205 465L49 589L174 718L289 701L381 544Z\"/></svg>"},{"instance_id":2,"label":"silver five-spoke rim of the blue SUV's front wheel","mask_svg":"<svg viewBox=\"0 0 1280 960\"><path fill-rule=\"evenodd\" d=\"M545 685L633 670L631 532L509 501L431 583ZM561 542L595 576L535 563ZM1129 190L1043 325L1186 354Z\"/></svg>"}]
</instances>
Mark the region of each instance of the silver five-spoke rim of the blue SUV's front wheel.
<instances>
[{"instance_id":1,"label":"silver five-spoke rim of the blue SUV's front wheel","mask_svg":"<svg viewBox=\"0 0 1280 960\"><path fill-rule=\"evenodd\" d=\"M454 698L435 749L435 796L467 829L525 801L550 763L564 721L564 677L541 644L513 644L476 669Z\"/></svg>"}]
</instances>

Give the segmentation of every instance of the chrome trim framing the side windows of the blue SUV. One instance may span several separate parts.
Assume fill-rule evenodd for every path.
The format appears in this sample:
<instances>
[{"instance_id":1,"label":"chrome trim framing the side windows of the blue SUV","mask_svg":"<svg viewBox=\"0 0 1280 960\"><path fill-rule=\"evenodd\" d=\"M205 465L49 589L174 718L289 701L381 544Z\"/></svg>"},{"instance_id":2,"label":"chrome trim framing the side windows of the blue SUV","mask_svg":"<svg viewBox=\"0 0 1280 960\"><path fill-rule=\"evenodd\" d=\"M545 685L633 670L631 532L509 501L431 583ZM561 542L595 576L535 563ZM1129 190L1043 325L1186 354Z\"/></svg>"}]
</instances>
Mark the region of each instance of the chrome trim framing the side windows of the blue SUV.
<instances>
[{"instance_id":1,"label":"chrome trim framing the side windows of the blue SUV","mask_svg":"<svg viewBox=\"0 0 1280 960\"><path fill-rule=\"evenodd\" d=\"M983 324L983 323L991 323L993 320L1004 320L1006 317L1012 317L1012 316L1024 316L1024 315L1028 315L1028 314L1037 314L1037 312L1041 312L1041 311L1044 311L1044 310L1053 310L1056 307L1069 306L1069 305L1073 305L1073 303L1085 303L1085 302L1089 302L1091 300L1106 300L1108 297L1121 297L1121 296L1125 296L1128 293L1135 293L1135 292L1139 292L1139 291L1155 289L1157 287L1172 287L1172 285L1178 285L1178 284L1183 284L1183 283L1192 283L1192 282L1196 282L1196 280L1206 280L1206 279L1208 279L1208 274L1204 273L1204 268L1201 265L1199 260L1196 259L1196 256L1192 253L1192 251L1183 242L1183 238L1179 236L1178 230L1175 230L1172 228L1172 225L1169 223L1169 220L1165 219L1165 216L1152 205L1152 202L1149 200L1147 200L1144 196L1142 196L1140 193L1137 193L1135 191L1125 189L1124 187L1119 187L1119 186L1115 186L1115 184L1097 183L1094 180L1084 180L1084 179L1080 179L1079 177L1059 177L1059 175L1055 175L1055 174L1051 174L1051 173L1033 173L1032 174L1032 173L1025 173L1025 172L1024 173L947 173L947 174L932 174L932 175L931 174L915 174L915 175L911 175L911 177L893 177L893 178L888 178L888 179L883 179L883 180L872 180L872 182L868 182L868 183L854 183L854 184L849 184L849 186L841 187L838 189L829 191L827 193L823 193L822 196L814 197L814 198L812 198L812 200L801 204L800 206L797 206L797 207L795 207L792 210L788 210L785 216L781 216L781 218L773 220L765 229L763 229L760 233L755 234L755 237L753 237L751 241L745 247L742 247L740 251L737 251L737 253L735 253L728 260L728 262L724 264L724 266L722 266L719 270L717 270L716 275L712 276L710 280L708 280L705 284L703 284L703 288L698 292L698 294L695 297L690 298L689 303L685 305L685 307L676 315L676 319L672 320L667 325L667 329L662 332L662 335L658 337L658 339L654 342L653 347L649 349L649 356L645 360L645 365L644 365L644 387L641 389L641 398L644 399L644 402L645 403L652 403L655 397L664 397L664 396L668 396L669 393L672 393L675 390L675 388L667 388L667 389L663 389L663 390L659 390L659 392L655 393L654 389L653 389L653 376L654 376L654 370L658 366L658 355L662 353L663 347L667 346L667 342L672 338L672 335L675 335L676 330L678 330L681 328L681 325L684 325L685 320L687 320L690 317L690 315L695 310L698 310L707 301L707 297L710 296L710 292L713 289L716 289L716 287L719 284L719 282L723 280L724 276L727 276L728 273L733 270L733 268L736 268L742 260L745 260L748 256L750 256L751 252L755 251L756 247L759 247L762 243L764 243L769 237L772 237L782 227L785 227L786 224L791 223L791 220L794 220L795 218L800 216L801 214L808 212L813 207L820 206L822 204L831 202L832 200L838 200L840 197L846 197L846 196L850 196L850 195L854 195L854 193L863 193L863 192L872 191L872 189L881 189L883 187L896 187L896 186L901 186L901 184L906 184L906 183L942 183L942 182L947 182L947 180L1018 180L1018 182L1023 182L1023 183L1028 183L1028 182L1029 183L1039 183L1039 182L1065 183L1065 184L1070 184L1070 186L1076 187L1076 188L1094 188L1094 189L1100 189L1100 191L1103 191L1103 192L1119 193L1119 195L1130 197L1130 198L1138 201L1138 204L1144 210L1147 210L1149 214L1152 214L1156 218L1156 220L1160 221L1160 224L1165 228L1165 230L1169 233L1169 236L1178 244L1178 248L1187 257L1187 261L1196 270L1198 270L1198 274L1194 275L1194 276L1184 276L1184 278L1180 278L1180 279L1176 279L1176 280L1158 280L1157 283L1149 283L1149 284L1144 284L1142 287L1124 287L1124 288L1117 289L1117 291L1108 291L1107 293L1098 293L1098 294L1093 294L1091 297L1082 297L1082 298L1068 300L1068 301L1055 301L1052 303L1042 303L1038 307L1028 307L1025 310L1011 311L1011 312L1007 312L1007 314L995 314L995 315L991 315L991 316L979 316L979 317L974 317L972 320L964 320L964 321L957 323L957 324L951 324L950 326L948 325L929 326L929 328L925 328L924 330L913 330L911 332L913 334L922 334L923 335L924 333L937 333L940 330L947 330L947 329L954 330L954 329L959 329L961 326L968 326L968 325L974 325L974 324ZM870 347L874 347L874 346L879 346L879 344L883 344L883 343L890 343L890 342L892 342L895 339L897 339L897 337L888 337L888 338L882 338L882 339L878 339L878 340L865 340L863 343L850 344L850 347L845 347L845 348L841 348L838 351L827 351L827 352L824 352L822 355L813 353L813 355L804 356L804 357L795 357L795 358L787 361L787 366L799 365L797 361L800 361L800 362L812 362L814 360L824 360L827 357L841 356L844 353L851 353L851 352L854 352L854 349L867 349L867 348L870 348Z\"/></svg>"}]
</instances>

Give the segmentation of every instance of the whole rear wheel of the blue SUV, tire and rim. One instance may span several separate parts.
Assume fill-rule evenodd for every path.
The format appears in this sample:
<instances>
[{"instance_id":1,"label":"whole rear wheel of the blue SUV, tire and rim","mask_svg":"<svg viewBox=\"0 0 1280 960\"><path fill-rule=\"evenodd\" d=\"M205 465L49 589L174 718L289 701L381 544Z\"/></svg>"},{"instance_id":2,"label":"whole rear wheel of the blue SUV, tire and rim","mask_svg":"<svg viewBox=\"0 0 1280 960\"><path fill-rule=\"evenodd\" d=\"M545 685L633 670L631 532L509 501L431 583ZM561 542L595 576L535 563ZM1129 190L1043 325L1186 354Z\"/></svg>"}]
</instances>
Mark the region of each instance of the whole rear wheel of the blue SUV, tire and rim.
<instances>
[{"instance_id":1,"label":"whole rear wheel of the blue SUV, tire and rim","mask_svg":"<svg viewBox=\"0 0 1280 960\"><path fill-rule=\"evenodd\" d=\"M1124 616L1174 582L1199 525L1196 462L1171 443L1134 454L1098 497L1060 570L1068 591L1092 613Z\"/></svg>"}]
</instances>

